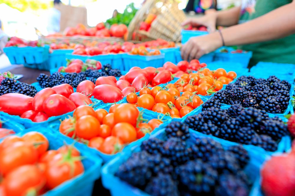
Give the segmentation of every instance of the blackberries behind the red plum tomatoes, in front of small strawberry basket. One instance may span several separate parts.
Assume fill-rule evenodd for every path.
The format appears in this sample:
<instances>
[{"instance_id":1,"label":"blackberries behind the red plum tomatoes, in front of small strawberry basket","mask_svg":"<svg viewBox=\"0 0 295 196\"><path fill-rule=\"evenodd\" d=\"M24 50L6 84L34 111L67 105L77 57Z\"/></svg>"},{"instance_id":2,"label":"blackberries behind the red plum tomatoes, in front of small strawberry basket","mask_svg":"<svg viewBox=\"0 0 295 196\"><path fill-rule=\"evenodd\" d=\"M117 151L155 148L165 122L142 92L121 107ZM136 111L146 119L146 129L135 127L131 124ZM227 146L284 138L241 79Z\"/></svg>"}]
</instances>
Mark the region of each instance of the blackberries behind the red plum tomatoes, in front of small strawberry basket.
<instances>
[{"instance_id":1,"label":"blackberries behind the red plum tomatoes, in front of small strawberry basket","mask_svg":"<svg viewBox=\"0 0 295 196\"><path fill-rule=\"evenodd\" d=\"M60 84L69 84L73 88L77 88L80 82L84 80L90 80L93 83L96 82L96 79L100 76L122 76L119 69L112 69L110 64L102 66L100 70L87 70L80 73L66 73L62 75L59 72L54 72L51 76L47 76L44 73L41 73L37 78L37 82L42 88L53 87Z\"/></svg>"}]
</instances>

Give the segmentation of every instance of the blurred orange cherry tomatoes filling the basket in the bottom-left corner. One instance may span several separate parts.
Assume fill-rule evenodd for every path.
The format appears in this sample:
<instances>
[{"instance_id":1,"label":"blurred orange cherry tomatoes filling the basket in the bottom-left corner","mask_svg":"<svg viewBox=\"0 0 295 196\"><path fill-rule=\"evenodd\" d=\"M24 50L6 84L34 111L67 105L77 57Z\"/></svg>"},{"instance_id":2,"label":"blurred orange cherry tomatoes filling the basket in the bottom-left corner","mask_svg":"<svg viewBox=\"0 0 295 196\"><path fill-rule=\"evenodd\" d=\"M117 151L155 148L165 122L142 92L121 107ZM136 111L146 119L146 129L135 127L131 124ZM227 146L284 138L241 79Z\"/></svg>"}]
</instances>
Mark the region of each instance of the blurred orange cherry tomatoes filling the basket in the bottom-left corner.
<instances>
[{"instance_id":1,"label":"blurred orange cherry tomatoes filling the basket in the bottom-left corner","mask_svg":"<svg viewBox=\"0 0 295 196\"><path fill-rule=\"evenodd\" d=\"M84 172L80 152L72 145L48 150L38 132L9 135L0 143L0 195L42 195Z\"/></svg>"}]
</instances>

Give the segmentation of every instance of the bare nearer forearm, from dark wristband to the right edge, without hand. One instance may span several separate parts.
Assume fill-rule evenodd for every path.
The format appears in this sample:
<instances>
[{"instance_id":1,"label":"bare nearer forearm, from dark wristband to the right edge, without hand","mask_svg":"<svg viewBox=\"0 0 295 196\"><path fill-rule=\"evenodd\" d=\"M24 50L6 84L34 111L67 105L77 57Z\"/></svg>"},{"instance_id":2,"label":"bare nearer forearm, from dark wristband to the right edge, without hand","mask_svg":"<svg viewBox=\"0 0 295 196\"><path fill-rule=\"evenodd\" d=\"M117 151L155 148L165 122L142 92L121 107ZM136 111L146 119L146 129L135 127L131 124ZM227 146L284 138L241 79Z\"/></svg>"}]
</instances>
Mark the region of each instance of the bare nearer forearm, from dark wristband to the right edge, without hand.
<instances>
[{"instance_id":1,"label":"bare nearer forearm, from dark wristband to the right edge, without hand","mask_svg":"<svg viewBox=\"0 0 295 196\"><path fill-rule=\"evenodd\" d=\"M295 33L295 2L222 30L226 46L269 41Z\"/></svg>"}]
</instances>

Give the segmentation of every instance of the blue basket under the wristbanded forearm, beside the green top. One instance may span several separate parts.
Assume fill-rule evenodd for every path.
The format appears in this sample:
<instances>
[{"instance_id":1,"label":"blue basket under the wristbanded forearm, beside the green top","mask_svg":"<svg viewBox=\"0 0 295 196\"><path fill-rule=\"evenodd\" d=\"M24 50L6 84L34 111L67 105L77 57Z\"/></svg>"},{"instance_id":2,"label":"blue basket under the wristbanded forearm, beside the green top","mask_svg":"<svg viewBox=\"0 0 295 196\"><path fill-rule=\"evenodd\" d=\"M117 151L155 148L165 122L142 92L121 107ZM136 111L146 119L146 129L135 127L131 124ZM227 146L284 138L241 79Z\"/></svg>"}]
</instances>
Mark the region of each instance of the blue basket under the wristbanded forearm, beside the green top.
<instances>
[{"instance_id":1,"label":"blue basket under the wristbanded forearm, beside the green top","mask_svg":"<svg viewBox=\"0 0 295 196\"><path fill-rule=\"evenodd\" d=\"M222 52L223 49L227 49L228 52ZM243 51L242 53L232 53L234 51L235 50L231 47L220 48L215 51L214 61L241 63L243 68L247 68L253 53L251 51Z\"/></svg>"}]
</instances>

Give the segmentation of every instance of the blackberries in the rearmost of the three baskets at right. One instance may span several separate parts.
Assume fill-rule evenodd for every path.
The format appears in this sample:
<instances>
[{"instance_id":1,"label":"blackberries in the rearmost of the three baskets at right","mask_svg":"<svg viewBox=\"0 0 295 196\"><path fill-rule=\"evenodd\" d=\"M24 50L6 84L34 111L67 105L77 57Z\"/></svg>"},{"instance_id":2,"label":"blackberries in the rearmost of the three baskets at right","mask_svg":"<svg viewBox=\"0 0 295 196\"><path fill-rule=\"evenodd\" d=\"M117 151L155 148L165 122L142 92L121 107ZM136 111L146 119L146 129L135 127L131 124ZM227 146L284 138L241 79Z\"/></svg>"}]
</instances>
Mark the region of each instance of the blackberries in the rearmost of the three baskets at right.
<instances>
[{"instance_id":1,"label":"blackberries in the rearmost of the three baskets at right","mask_svg":"<svg viewBox=\"0 0 295 196\"><path fill-rule=\"evenodd\" d=\"M215 93L212 99L215 105L240 104L244 108L258 108L268 113L284 113L290 100L290 88L288 81L281 81L276 76L268 79L241 76L235 83ZM204 110L207 106L204 104Z\"/></svg>"}]
</instances>

